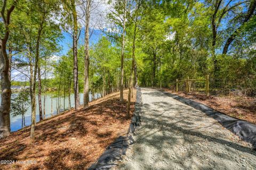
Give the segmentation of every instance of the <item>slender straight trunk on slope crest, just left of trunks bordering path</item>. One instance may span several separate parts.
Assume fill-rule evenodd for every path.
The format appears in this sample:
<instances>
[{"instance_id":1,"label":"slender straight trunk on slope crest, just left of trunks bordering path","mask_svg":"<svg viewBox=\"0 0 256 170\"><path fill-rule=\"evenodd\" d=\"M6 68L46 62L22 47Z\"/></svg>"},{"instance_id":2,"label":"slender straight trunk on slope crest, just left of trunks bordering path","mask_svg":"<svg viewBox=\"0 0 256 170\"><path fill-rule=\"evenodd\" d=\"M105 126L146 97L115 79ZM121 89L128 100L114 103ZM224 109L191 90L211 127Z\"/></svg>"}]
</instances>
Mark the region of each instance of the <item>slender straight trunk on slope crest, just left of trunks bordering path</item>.
<instances>
[{"instance_id":1,"label":"slender straight trunk on slope crest, just left of trunks bordering path","mask_svg":"<svg viewBox=\"0 0 256 170\"><path fill-rule=\"evenodd\" d=\"M123 33L122 33L122 55L121 55L121 79L120 79L120 101L124 101L124 48L125 48L125 19L126 19L126 0L124 3Z\"/></svg>"}]
</instances>

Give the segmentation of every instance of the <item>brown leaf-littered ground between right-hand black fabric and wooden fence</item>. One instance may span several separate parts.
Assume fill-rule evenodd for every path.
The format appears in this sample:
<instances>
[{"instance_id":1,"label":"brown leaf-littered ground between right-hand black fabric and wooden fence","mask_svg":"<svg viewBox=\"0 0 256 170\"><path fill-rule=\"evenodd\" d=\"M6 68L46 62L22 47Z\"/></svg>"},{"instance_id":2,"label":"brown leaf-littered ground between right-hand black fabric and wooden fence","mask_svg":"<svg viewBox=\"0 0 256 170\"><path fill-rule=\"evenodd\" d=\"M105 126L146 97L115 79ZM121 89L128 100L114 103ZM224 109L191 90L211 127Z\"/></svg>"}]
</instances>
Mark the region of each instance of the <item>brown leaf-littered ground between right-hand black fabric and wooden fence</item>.
<instances>
[{"instance_id":1,"label":"brown leaf-littered ground between right-hand black fabric and wooden fence","mask_svg":"<svg viewBox=\"0 0 256 170\"><path fill-rule=\"evenodd\" d=\"M211 108L225 113L229 116L239 118L256 124L256 99L253 97L241 96L205 96L196 92L175 92L173 90L165 89L167 92L179 95L202 104L210 106Z\"/></svg>"}]
</instances>

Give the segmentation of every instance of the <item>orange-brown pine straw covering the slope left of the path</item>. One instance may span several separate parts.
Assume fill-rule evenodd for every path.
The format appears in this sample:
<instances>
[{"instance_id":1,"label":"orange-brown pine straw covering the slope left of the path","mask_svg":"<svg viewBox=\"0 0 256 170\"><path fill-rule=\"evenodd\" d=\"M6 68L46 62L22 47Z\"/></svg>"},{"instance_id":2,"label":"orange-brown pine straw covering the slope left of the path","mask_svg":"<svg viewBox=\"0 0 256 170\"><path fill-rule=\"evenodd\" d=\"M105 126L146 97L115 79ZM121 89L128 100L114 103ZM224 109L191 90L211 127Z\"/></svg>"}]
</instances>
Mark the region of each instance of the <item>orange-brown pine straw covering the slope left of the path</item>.
<instances>
[{"instance_id":1,"label":"orange-brown pine straw covering the slope left of the path","mask_svg":"<svg viewBox=\"0 0 256 170\"><path fill-rule=\"evenodd\" d=\"M124 91L124 99L127 92ZM37 123L32 142L29 127L12 133L0 140L0 160L14 160L14 163L0 165L0 169L88 168L111 142L127 133L135 104L133 92L129 117L127 100L120 103L119 92L115 92L92 101L87 109L69 111ZM29 160L36 163L22 162Z\"/></svg>"}]
</instances>

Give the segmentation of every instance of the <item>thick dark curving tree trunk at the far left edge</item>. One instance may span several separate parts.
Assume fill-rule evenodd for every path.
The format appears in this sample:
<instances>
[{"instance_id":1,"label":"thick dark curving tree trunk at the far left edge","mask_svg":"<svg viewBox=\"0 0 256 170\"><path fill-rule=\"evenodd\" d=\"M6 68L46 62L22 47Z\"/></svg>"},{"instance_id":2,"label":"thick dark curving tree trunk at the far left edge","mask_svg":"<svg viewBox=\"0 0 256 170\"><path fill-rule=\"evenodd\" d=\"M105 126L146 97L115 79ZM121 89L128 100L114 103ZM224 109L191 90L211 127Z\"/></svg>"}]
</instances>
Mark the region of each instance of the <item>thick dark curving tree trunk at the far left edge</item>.
<instances>
[{"instance_id":1,"label":"thick dark curving tree trunk at the far left edge","mask_svg":"<svg viewBox=\"0 0 256 170\"><path fill-rule=\"evenodd\" d=\"M6 8L7 1L2 4L1 20L4 22L4 35L0 39L0 75L1 75L1 106L0 106L0 138L10 135L10 106L11 106L11 81L9 79L10 61L6 52L6 43L9 39L9 25L14 4L9 9ZM5 11L7 13L5 14Z\"/></svg>"}]
</instances>

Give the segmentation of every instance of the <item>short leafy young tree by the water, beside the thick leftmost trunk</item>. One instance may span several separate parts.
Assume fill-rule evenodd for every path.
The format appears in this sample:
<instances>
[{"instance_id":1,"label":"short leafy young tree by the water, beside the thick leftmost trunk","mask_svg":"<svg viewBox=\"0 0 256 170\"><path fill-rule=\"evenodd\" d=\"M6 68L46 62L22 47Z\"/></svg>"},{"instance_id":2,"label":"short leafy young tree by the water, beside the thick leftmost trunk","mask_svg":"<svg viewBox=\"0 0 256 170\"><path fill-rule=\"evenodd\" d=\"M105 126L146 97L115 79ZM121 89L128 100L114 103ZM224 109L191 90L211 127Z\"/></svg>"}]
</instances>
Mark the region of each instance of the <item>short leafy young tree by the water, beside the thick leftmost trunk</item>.
<instances>
[{"instance_id":1,"label":"short leafy young tree by the water, beside the thick leftmost trunk","mask_svg":"<svg viewBox=\"0 0 256 170\"><path fill-rule=\"evenodd\" d=\"M11 99L11 113L12 116L21 115L21 127L25 127L25 113L28 111L29 92L22 91L15 98Z\"/></svg>"}]
</instances>

